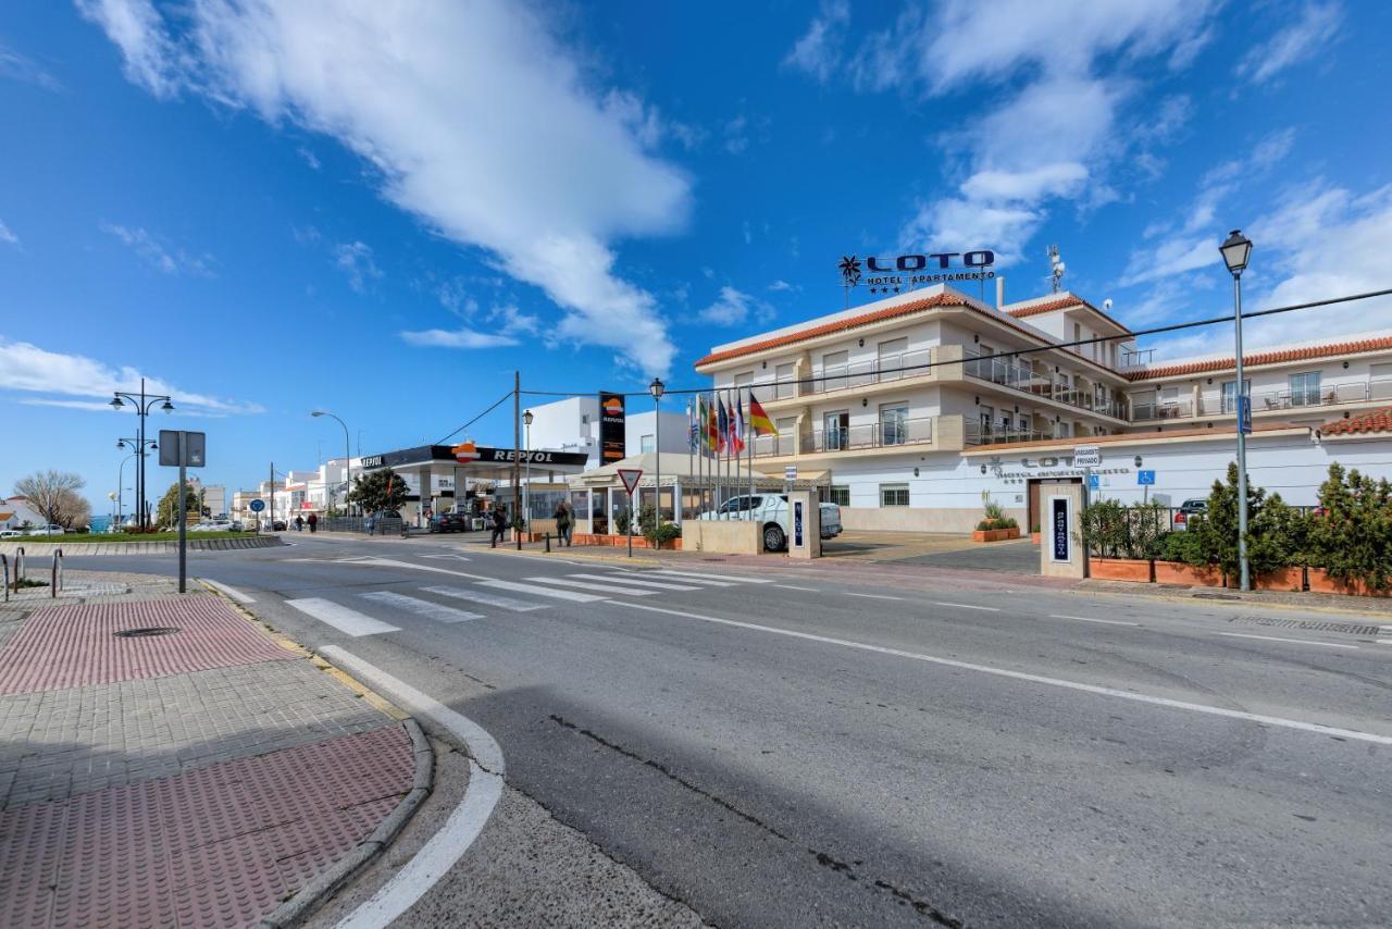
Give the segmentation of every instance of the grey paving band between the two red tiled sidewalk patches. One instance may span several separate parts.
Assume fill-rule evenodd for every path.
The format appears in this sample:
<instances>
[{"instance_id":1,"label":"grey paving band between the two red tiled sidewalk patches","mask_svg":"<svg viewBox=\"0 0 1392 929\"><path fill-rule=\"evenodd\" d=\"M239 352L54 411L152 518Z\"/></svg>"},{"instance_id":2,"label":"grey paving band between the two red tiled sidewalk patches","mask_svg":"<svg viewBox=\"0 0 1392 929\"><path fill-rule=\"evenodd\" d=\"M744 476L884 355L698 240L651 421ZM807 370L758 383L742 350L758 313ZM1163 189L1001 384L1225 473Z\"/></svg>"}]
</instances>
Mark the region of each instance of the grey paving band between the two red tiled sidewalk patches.
<instances>
[{"instance_id":1,"label":"grey paving band between the two red tiled sidewalk patches","mask_svg":"<svg viewBox=\"0 0 1392 929\"><path fill-rule=\"evenodd\" d=\"M388 723L308 660L0 696L0 808Z\"/></svg>"}]
</instances>

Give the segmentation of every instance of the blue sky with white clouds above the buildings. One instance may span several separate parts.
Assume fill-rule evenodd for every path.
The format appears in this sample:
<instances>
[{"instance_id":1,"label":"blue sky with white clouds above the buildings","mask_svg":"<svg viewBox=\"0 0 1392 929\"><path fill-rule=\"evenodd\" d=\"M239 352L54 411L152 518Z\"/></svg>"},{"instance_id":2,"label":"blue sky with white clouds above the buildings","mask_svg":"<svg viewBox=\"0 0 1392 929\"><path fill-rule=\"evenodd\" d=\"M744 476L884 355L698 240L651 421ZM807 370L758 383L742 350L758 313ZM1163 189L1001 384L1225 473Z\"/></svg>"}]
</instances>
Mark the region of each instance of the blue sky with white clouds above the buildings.
<instances>
[{"instance_id":1,"label":"blue sky with white clouds above the buildings","mask_svg":"<svg viewBox=\"0 0 1392 929\"><path fill-rule=\"evenodd\" d=\"M1253 306L1385 287L1389 38L1352 0L10 4L0 489L74 469L103 511L141 375L231 487L340 451L315 407L370 453L514 369L697 386L711 344L839 309L852 252L992 248L1023 299L1057 242L1134 327L1224 312L1236 226Z\"/></svg>"}]
</instances>

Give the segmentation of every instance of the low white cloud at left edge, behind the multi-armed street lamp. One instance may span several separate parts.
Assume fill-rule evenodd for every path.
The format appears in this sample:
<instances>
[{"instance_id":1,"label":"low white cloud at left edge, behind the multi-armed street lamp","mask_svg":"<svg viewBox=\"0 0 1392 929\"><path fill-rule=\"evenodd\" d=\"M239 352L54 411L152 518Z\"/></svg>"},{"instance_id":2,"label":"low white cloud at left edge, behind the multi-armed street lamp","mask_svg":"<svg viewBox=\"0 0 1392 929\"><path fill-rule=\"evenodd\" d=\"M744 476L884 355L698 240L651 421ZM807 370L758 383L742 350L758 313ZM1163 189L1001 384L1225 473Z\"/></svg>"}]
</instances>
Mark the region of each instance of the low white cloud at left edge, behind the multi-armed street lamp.
<instances>
[{"instance_id":1,"label":"low white cloud at left edge, behind the multi-armed street lamp","mask_svg":"<svg viewBox=\"0 0 1392 929\"><path fill-rule=\"evenodd\" d=\"M58 394L60 397L90 397L89 401L56 401L28 398L25 403L64 405L78 409L110 409L111 391L139 390L141 372L135 368L107 368L84 355L53 352L32 343L6 341L0 337L0 389L25 393ZM181 412L255 414L264 412L253 403L223 400L207 394L180 390L157 377L145 376L145 390L167 394ZM79 405L86 403L88 405Z\"/></svg>"}]
</instances>

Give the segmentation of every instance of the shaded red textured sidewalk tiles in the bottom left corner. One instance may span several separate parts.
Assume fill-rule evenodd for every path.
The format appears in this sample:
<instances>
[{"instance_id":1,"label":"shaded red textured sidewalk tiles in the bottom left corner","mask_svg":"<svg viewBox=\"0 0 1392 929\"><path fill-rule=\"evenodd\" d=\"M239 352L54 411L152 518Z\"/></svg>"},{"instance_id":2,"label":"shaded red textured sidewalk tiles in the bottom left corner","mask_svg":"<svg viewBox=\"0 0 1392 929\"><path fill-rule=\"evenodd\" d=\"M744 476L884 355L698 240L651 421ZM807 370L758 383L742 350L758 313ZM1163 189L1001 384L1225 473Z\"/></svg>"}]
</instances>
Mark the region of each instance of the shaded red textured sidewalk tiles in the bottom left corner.
<instances>
[{"instance_id":1,"label":"shaded red textured sidewalk tiles in the bottom left corner","mask_svg":"<svg viewBox=\"0 0 1392 929\"><path fill-rule=\"evenodd\" d=\"M245 926L411 790L400 726L0 813L0 926Z\"/></svg>"}]
</instances>

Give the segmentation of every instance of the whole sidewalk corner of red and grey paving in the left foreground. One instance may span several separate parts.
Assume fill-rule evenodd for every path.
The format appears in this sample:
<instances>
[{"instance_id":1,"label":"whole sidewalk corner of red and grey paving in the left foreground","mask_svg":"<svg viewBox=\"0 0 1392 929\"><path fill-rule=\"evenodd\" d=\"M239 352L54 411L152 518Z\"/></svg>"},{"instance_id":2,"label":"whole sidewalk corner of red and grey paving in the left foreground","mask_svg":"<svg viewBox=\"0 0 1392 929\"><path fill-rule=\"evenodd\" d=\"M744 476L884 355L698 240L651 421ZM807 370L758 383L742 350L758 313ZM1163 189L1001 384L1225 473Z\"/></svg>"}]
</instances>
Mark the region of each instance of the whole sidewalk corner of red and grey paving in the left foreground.
<instances>
[{"instance_id":1,"label":"whole sidewalk corner of red and grey paving in the left foreground","mask_svg":"<svg viewBox=\"0 0 1392 929\"><path fill-rule=\"evenodd\" d=\"M96 589L0 610L0 926L252 925L411 791L401 721L223 599Z\"/></svg>"}]
</instances>

